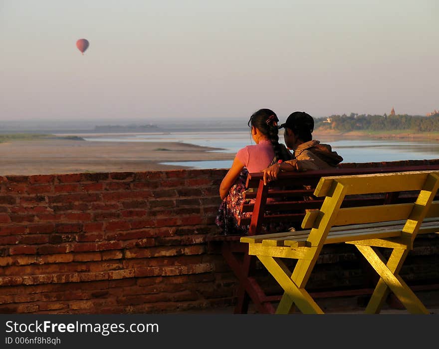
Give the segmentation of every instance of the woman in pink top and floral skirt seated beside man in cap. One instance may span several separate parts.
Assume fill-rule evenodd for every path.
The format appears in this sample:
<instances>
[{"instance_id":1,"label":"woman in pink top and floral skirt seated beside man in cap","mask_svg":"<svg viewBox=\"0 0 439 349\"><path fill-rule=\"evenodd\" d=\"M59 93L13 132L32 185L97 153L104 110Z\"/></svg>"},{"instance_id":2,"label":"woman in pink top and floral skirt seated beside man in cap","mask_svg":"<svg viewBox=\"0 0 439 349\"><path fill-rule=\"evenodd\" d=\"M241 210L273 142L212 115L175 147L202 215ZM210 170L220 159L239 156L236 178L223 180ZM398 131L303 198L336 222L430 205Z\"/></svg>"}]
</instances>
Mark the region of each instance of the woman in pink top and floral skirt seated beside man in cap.
<instances>
[{"instance_id":1,"label":"woman in pink top and floral skirt seated beside man in cap","mask_svg":"<svg viewBox=\"0 0 439 349\"><path fill-rule=\"evenodd\" d=\"M216 224L224 235L245 234L248 227L238 225L239 218L251 215L240 213L245 191L245 180L250 172L260 172L267 166L293 158L283 144L279 144L279 119L270 109L260 109L251 115L248 126L256 143L240 149L219 187L222 203Z\"/></svg>"}]
</instances>

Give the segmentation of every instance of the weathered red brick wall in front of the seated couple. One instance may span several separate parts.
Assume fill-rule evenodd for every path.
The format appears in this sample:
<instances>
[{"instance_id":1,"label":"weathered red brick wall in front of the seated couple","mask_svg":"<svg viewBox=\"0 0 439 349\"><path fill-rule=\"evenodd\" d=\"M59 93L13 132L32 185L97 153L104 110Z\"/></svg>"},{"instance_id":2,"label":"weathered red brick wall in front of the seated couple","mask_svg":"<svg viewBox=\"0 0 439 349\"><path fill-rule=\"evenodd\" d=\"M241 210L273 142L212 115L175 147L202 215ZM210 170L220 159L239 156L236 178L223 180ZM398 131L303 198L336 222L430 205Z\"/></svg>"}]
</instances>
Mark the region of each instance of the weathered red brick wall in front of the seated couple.
<instances>
[{"instance_id":1,"label":"weathered red brick wall in front of the seated couple","mask_svg":"<svg viewBox=\"0 0 439 349\"><path fill-rule=\"evenodd\" d=\"M206 244L225 172L0 177L0 313L232 304L236 280Z\"/></svg>"}]
</instances>

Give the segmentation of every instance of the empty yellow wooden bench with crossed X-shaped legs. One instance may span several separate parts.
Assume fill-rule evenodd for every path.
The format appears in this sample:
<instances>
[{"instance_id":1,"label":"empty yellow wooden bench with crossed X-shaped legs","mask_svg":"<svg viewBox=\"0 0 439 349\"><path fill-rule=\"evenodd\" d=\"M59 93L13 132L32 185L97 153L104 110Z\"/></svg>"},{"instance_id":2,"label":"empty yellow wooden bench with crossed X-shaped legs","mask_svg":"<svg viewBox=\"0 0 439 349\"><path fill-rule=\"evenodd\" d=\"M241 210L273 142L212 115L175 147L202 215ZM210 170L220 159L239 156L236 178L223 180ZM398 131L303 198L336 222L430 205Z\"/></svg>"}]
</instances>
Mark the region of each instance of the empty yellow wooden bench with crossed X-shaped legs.
<instances>
[{"instance_id":1,"label":"empty yellow wooden bench with crossed X-shaped legs","mask_svg":"<svg viewBox=\"0 0 439 349\"><path fill-rule=\"evenodd\" d=\"M302 230L241 237L248 254L255 255L284 290L276 314L296 306L304 314L323 314L305 290L325 244L353 244L379 274L366 313L378 314L392 291L413 314L429 311L399 276L417 234L439 232L439 171L395 172L322 177L314 195L325 197L320 209L309 210ZM415 202L340 208L350 195L381 192L419 192ZM390 249L386 260L381 248ZM296 259L293 272L283 259Z\"/></svg>"}]
</instances>

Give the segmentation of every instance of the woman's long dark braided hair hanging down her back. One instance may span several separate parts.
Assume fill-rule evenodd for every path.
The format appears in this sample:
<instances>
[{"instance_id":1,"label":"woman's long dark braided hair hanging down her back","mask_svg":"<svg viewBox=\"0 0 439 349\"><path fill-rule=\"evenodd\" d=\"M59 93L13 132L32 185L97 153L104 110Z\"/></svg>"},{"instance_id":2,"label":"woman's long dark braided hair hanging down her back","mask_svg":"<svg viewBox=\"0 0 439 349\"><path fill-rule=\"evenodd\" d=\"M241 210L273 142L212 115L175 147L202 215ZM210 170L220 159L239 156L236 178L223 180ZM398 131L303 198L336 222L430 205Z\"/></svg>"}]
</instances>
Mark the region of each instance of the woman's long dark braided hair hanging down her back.
<instances>
[{"instance_id":1,"label":"woman's long dark braided hair hanging down her back","mask_svg":"<svg viewBox=\"0 0 439 349\"><path fill-rule=\"evenodd\" d=\"M271 109L259 109L255 111L248 120L248 126L256 127L264 136L266 136L273 145L274 155L277 160L290 160L291 154L288 150L279 144L279 128L277 123L279 119Z\"/></svg>"}]
</instances>

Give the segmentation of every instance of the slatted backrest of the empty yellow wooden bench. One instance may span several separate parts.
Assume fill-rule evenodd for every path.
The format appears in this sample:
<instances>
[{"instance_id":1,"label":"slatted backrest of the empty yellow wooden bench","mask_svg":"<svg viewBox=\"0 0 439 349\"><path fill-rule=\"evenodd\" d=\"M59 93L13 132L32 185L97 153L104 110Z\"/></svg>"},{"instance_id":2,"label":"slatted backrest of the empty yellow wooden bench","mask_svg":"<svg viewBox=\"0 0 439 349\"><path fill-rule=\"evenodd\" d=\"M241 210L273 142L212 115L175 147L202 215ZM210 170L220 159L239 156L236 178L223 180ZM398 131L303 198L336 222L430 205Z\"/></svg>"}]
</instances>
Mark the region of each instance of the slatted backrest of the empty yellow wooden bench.
<instances>
[{"instance_id":1,"label":"slatted backrest of the empty yellow wooden bench","mask_svg":"<svg viewBox=\"0 0 439 349\"><path fill-rule=\"evenodd\" d=\"M325 200L320 210L307 212L302 228L312 228L311 246L321 246L332 226L407 220L402 232L413 234L425 217L438 213L439 204L432 206L438 187L438 171L322 177L314 195ZM414 203L340 208L347 195L400 191L420 193Z\"/></svg>"}]
</instances>

